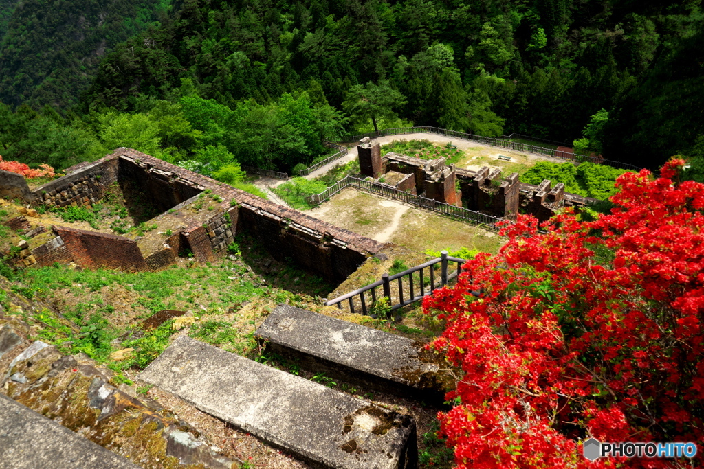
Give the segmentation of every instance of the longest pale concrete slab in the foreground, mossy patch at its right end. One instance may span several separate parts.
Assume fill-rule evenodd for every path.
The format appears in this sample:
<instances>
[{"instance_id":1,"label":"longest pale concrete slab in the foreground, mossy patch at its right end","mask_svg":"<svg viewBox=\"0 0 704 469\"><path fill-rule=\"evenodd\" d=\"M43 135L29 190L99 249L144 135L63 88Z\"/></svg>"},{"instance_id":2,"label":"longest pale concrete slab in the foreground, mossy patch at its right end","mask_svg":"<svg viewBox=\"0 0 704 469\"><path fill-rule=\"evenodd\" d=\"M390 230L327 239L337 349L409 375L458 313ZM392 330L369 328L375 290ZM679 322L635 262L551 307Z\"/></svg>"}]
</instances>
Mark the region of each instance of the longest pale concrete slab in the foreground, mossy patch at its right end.
<instances>
[{"instance_id":1,"label":"longest pale concrete slab in the foreground, mossy patch at its right end","mask_svg":"<svg viewBox=\"0 0 704 469\"><path fill-rule=\"evenodd\" d=\"M411 469L415 420L180 337L139 379L315 467Z\"/></svg>"}]
</instances>

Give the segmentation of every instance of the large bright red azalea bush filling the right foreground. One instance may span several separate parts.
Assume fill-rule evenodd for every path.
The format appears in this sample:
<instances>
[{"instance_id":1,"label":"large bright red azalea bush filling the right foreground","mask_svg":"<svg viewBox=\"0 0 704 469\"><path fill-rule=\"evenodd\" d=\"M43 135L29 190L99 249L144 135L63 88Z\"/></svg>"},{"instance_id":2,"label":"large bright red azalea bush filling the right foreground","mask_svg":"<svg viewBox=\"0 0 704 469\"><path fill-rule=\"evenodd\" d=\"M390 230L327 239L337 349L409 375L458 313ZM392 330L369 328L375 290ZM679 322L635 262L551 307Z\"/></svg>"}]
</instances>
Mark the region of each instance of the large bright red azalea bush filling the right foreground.
<instances>
[{"instance_id":1,"label":"large bright red azalea bush filling the right foreground","mask_svg":"<svg viewBox=\"0 0 704 469\"><path fill-rule=\"evenodd\" d=\"M505 226L499 255L465 264L423 303L463 371L441 433L459 468L702 465L704 184L617 180L612 214ZM484 289L482 298L469 295ZM581 442L696 442L693 461L582 456Z\"/></svg>"}]
</instances>

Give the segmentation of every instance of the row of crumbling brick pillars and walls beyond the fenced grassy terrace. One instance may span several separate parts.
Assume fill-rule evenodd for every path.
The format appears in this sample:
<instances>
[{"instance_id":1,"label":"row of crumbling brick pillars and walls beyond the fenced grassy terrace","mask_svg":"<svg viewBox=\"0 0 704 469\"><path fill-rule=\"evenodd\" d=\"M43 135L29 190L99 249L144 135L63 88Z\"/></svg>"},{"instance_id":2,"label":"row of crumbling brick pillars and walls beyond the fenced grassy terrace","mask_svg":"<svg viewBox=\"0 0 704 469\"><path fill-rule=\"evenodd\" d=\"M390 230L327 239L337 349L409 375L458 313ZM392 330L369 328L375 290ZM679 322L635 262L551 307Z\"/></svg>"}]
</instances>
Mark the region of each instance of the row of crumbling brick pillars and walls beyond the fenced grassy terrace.
<instances>
[{"instance_id":1,"label":"row of crumbling brick pillars and walls beyond the fenced grassy terrace","mask_svg":"<svg viewBox=\"0 0 704 469\"><path fill-rule=\"evenodd\" d=\"M379 148L379 143L372 144L367 140L358 146L360 169L365 176L377 179L389 172L408 174L406 179L391 186L494 217L515 219L519 212L524 212L546 221L562 207L579 209L597 202L565 193L564 184L557 184L551 190L551 181L533 186L520 182L517 173L502 179L501 170L497 168L482 167L476 172L459 169L446 165L445 158L429 161L386 153L377 162L372 148Z\"/></svg>"}]
</instances>

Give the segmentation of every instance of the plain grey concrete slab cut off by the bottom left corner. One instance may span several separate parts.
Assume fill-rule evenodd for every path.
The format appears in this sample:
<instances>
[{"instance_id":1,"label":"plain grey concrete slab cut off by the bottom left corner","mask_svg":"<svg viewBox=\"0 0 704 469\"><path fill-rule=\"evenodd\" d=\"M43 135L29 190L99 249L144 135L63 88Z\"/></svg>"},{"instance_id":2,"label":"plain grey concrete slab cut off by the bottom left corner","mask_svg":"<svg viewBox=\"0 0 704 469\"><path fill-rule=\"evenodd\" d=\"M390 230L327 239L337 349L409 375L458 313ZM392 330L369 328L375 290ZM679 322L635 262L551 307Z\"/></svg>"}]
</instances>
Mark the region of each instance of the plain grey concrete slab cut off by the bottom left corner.
<instances>
[{"instance_id":1,"label":"plain grey concrete slab cut off by the bottom left corner","mask_svg":"<svg viewBox=\"0 0 704 469\"><path fill-rule=\"evenodd\" d=\"M0 394L0 468L139 469L139 466Z\"/></svg>"}]
</instances>

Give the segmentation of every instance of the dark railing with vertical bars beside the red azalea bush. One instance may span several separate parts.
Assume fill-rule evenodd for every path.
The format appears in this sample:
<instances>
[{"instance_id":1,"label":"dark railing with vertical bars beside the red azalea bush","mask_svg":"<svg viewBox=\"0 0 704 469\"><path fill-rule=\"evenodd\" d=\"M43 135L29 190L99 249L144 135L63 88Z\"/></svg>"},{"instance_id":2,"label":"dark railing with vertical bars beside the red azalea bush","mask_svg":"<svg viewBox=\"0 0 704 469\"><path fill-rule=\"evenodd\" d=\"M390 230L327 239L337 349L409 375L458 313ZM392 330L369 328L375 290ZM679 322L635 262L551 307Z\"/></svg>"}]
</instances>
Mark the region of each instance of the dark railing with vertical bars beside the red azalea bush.
<instances>
[{"instance_id":1,"label":"dark railing with vertical bars beside the red azalea bush","mask_svg":"<svg viewBox=\"0 0 704 469\"><path fill-rule=\"evenodd\" d=\"M452 272L448 269L448 264L450 262L455 262L457 264L456 270ZM438 288L442 288L447 285L448 281L459 276L462 269L462 265L467 262L467 259L460 259L459 257L448 256L447 251L442 251L440 257L431 259L425 264L420 264L418 266L412 267L411 269L399 272L389 276L389 274L382 274L382 279L376 281L375 283L370 283L369 285L354 290L351 293L337 297L334 300L325 302L325 306L337 305L339 309L342 309L342 304L347 302L351 313L357 311L355 307L355 298L358 297L357 303L359 304L360 311L362 314L370 315L370 311L374 311L376 308L372 308L372 305L378 304L380 299L377 295L377 288L381 288L382 297L386 298L388 305L391 307L391 311L395 311L398 308L408 306L413 302L422 300L423 297L430 295ZM437 283L436 283L436 266L439 264L439 272L437 272ZM427 274L425 274L427 271ZM415 273L417 272L417 277ZM406 278L406 285L403 283L403 279ZM392 302L391 289L395 282L398 287L394 288L397 290L398 295L393 297L398 297L398 302ZM428 286L429 288L426 288ZM406 290L406 287L408 288ZM406 291L404 291L406 290ZM472 295L479 296L480 292L472 291ZM367 298L366 295L369 295ZM367 300L371 300L367 304Z\"/></svg>"}]
</instances>

